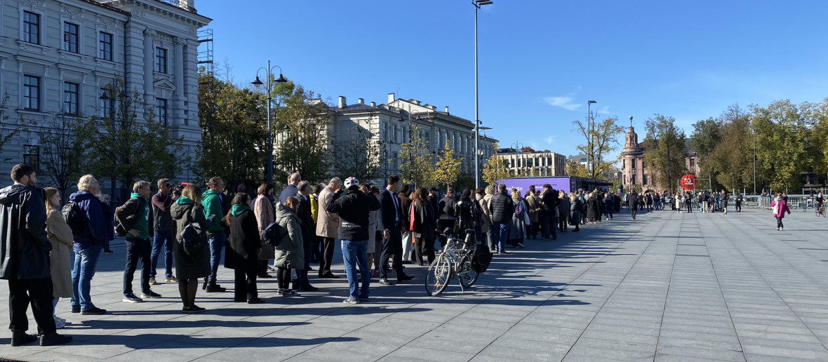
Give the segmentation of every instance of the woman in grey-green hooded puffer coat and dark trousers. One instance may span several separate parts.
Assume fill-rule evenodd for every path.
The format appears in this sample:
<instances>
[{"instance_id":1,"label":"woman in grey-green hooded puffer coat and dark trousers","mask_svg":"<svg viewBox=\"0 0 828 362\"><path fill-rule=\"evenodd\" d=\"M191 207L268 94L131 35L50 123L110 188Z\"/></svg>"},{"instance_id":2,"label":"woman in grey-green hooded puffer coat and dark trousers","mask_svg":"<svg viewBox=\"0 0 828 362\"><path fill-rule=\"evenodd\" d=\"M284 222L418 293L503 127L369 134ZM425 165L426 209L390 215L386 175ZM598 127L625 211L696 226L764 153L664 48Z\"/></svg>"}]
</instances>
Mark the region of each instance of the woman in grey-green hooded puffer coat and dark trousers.
<instances>
[{"instance_id":1,"label":"woman in grey-green hooded puffer coat and dark trousers","mask_svg":"<svg viewBox=\"0 0 828 362\"><path fill-rule=\"evenodd\" d=\"M305 268L305 241L302 239L299 217L296 216L298 207L297 198L287 198L284 204L280 203L276 208L276 221L287 231L275 248L276 260L273 261L277 269L278 293L283 295L298 295L290 288L291 269Z\"/></svg>"}]
</instances>

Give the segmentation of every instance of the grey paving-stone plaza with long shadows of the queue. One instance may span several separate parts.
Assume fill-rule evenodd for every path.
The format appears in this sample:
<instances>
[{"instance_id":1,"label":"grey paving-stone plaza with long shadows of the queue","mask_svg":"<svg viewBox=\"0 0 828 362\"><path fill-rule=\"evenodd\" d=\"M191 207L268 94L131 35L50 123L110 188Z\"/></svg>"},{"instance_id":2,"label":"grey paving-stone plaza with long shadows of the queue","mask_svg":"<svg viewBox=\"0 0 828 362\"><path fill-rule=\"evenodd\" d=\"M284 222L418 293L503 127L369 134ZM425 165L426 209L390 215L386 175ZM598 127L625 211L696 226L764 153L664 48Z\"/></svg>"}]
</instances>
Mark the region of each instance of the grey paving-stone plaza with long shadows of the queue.
<instances>
[{"instance_id":1,"label":"grey paving-stone plaza with long shadows of the queue","mask_svg":"<svg viewBox=\"0 0 828 362\"><path fill-rule=\"evenodd\" d=\"M70 345L11 347L0 356L31 361L790 361L828 360L828 221L793 211L785 231L766 210L639 213L527 241L495 255L474 288L459 283L426 296L416 280L372 284L369 303L345 305L347 282L311 280L318 292L276 295L266 304L199 291L208 311L181 313L176 283L164 298L124 303L123 241L102 255L93 299L103 316L70 313ZM339 253L339 250L337 250ZM339 256L341 257L341 255ZM341 260L341 259L339 259ZM163 269L161 275L163 275ZM341 261L335 273L343 274ZM219 269L219 283L232 286ZM376 280L374 280L376 282ZM5 284L5 282L3 282ZM6 288L3 286L2 288ZM3 293L7 299L7 293ZM0 324L8 324L0 302ZM31 317L31 311L30 311ZM34 332L31 320L31 332Z\"/></svg>"}]
</instances>

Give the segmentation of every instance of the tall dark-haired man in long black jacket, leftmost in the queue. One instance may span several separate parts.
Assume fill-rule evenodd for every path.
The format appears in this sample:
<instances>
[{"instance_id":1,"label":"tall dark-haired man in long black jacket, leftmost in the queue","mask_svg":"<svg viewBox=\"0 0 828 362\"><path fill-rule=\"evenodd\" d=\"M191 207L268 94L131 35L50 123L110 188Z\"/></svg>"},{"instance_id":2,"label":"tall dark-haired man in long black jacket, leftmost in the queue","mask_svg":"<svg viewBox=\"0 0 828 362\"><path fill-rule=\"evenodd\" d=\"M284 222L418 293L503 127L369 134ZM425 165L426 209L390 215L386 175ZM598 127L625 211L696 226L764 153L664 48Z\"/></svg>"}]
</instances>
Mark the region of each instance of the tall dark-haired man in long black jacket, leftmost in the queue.
<instances>
[{"instance_id":1,"label":"tall dark-haired man in long black jacket, leftmost in the queue","mask_svg":"<svg viewBox=\"0 0 828 362\"><path fill-rule=\"evenodd\" d=\"M46 238L46 204L35 188L35 170L28 164L12 168L14 184L0 190L0 279L8 280L8 329L12 346L37 341L26 333L31 303L41 345L62 345L70 336L55 332L52 318L52 281L49 271L51 243Z\"/></svg>"}]
</instances>

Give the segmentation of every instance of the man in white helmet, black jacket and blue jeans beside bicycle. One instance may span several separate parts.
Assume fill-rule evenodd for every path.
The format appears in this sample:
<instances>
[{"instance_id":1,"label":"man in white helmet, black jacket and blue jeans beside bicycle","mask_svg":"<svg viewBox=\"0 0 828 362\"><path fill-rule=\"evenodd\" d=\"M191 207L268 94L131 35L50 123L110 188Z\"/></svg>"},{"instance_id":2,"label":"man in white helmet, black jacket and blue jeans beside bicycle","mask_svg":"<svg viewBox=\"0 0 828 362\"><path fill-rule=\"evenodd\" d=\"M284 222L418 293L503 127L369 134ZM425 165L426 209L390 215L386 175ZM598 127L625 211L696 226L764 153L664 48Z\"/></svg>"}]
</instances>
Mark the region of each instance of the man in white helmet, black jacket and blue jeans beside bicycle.
<instances>
[{"instance_id":1,"label":"man in white helmet, black jacket and blue jeans beside bicycle","mask_svg":"<svg viewBox=\"0 0 828 362\"><path fill-rule=\"evenodd\" d=\"M371 285L371 272L368 269L368 214L379 210L380 204L373 194L359 191L359 180L354 177L345 179L345 189L330 193L325 202L325 210L339 215L339 239L342 240L342 260L345 274L348 276L349 298L343 302L357 304L368 302L368 288ZM357 264L359 279L357 281Z\"/></svg>"}]
</instances>

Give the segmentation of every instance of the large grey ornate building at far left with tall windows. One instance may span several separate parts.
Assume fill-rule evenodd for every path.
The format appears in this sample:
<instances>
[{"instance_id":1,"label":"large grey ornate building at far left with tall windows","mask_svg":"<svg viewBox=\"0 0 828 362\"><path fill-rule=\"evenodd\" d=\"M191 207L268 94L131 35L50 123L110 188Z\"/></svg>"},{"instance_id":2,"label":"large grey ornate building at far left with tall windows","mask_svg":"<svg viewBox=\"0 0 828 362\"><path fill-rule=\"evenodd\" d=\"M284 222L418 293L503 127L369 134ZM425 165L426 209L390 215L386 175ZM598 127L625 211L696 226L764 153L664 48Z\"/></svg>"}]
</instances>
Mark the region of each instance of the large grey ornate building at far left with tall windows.
<instances>
[{"instance_id":1,"label":"large grey ornate building at far left with tall windows","mask_svg":"<svg viewBox=\"0 0 828 362\"><path fill-rule=\"evenodd\" d=\"M197 31L209 24L195 0L3 0L0 2L0 93L5 115L33 122L5 145L0 169L40 157L37 131L55 117L103 116L101 99L118 79L145 108L184 137L201 140ZM0 132L8 131L8 129ZM8 160L6 160L8 159ZM185 170L189 173L189 170ZM112 193L107 175L104 193ZM170 175L171 178L187 175ZM41 179L46 183L46 178Z\"/></svg>"}]
</instances>

